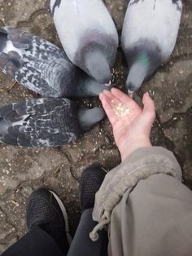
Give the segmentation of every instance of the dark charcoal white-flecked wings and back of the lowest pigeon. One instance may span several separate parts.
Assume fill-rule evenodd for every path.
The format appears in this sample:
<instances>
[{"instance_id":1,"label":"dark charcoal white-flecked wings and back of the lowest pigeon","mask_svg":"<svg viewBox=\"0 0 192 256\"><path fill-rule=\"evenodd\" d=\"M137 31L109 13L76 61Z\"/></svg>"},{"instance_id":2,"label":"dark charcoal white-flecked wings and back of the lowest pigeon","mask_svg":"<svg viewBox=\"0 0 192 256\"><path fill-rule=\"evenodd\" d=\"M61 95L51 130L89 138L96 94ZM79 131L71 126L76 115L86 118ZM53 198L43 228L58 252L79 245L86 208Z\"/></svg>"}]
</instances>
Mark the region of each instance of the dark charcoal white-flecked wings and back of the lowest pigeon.
<instances>
[{"instance_id":1,"label":"dark charcoal white-flecked wings and back of the lowest pigeon","mask_svg":"<svg viewBox=\"0 0 192 256\"><path fill-rule=\"evenodd\" d=\"M28 99L7 105L0 109L0 140L34 148L71 143L76 134L70 111L68 99Z\"/></svg>"}]
</instances>

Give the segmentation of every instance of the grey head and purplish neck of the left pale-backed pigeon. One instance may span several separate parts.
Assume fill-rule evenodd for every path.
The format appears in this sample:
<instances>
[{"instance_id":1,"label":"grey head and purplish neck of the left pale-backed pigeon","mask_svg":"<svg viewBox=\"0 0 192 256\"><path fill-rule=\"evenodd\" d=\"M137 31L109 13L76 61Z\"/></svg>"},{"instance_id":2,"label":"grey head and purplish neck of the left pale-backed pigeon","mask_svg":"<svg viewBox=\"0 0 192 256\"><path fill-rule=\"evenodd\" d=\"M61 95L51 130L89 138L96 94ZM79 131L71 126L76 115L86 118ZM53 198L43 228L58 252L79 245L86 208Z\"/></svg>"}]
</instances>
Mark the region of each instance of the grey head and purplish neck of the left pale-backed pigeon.
<instances>
[{"instance_id":1,"label":"grey head and purplish neck of the left pale-backed pigeon","mask_svg":"<svg viewBox=\"0 0 192 256\"><path fill-rule=\"evenodd\" d=\"M116 60L117 43L113 38L95 30L81 36L74 63L90 77L101 83L111 80L111 67Z\"/></svg>"}]
</instances>

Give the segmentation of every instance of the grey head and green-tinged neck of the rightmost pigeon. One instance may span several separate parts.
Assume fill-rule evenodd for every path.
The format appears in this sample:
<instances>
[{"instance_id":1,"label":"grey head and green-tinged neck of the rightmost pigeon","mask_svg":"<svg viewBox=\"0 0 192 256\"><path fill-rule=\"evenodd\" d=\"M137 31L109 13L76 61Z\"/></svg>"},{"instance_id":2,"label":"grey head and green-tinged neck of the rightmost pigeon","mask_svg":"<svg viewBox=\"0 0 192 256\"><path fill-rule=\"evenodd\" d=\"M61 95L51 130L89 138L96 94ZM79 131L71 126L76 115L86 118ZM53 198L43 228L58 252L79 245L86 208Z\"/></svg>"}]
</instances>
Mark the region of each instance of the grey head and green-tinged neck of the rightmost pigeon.
<instances>
[{"instance_id":1,"label":"grey head and green-tinged neck of the rightmost pigeon","mask_svg":"<svg viewBox=\"0 0 192 256\"><path fill-rule=\"evenodd\" d=\"M126 81L126 89L130 94L142 86L142 82L150 71L150 60L146 54L141 54L129 68L129 75Z\"/></svg>"}]
</instances>

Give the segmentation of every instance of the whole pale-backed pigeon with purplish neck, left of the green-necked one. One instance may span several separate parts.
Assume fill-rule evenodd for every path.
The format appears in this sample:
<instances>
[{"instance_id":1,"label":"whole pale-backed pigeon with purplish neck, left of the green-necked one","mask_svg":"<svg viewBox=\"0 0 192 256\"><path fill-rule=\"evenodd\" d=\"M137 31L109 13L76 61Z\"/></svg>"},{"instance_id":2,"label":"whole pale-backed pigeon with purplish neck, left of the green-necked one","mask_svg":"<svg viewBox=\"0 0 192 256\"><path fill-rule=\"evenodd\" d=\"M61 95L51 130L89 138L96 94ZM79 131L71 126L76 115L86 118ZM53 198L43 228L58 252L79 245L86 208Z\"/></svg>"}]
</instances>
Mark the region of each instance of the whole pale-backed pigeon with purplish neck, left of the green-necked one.
<instances>
[{"instance_id":1,"label":"whole pale-backed pigeon with purplish neck, left of the green-necked one","mask_svg":"<svg viewBox=\"0 0 192 256\"><path fill-rule=\"evenodd\" d=\"M72 63L98 82L110 82L119 38L103 1L50 0L50 10Z\"/></svg>"}]
</instances>

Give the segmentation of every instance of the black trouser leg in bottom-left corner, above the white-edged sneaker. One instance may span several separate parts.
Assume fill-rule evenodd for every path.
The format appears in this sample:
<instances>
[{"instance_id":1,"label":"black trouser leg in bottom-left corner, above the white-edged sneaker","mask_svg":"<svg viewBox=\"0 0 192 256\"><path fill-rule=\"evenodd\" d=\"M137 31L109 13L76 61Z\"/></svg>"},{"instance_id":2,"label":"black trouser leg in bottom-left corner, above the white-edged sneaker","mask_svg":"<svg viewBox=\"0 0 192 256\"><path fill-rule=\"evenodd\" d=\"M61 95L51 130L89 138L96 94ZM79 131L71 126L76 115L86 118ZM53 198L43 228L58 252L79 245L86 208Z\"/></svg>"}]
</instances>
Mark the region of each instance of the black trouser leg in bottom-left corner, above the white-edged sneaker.
<instances>
[{"instance_id":1,"label":"black trouser leg in bottom-left corner, above the white-edged sneaker","mask_svg":"<svg viewBox=\"0 0 192 256\"><path fill-rule=\"evenodd\" d=\"M34 227L2 256L64 256L52 236Z\"/></svg>"}]
</instances>

